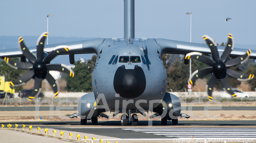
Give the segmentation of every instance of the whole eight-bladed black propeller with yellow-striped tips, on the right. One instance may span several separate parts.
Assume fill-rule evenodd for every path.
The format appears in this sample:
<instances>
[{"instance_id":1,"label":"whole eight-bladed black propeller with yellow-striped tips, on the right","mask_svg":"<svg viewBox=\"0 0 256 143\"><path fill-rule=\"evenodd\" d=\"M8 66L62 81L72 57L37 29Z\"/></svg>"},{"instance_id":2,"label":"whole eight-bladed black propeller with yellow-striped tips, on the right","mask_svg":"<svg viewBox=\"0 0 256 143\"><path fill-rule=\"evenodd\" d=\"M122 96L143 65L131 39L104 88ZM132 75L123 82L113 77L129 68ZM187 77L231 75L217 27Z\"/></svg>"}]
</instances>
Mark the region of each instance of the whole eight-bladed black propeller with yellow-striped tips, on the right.
<instances>
[{"instance_id":1,"label":"whole eight-bladed black propeller with yellow-striped tips, on the right","mask_svg":"<svg viewBox=\"0 0 256 143\"><path fill-rule=\"evenodd\" d=\"M237 98L237 94L235 94L232 91L230 84L228 83L227 75L239 81L247 81L253 79L253 74L246 75L230 69L231 66L236 66L238 64L242 64L243 62L245 62L249 58L251 50L248 50L244 55L233 58L232 60L227 60L230 55L230 52L234 49L234 39L232 34L228 34L228 43L221 57L219 57L218 49L214 40L207 35L202 36L202 38L203 40L207 41L208 46L211 49L212 59L204 56L202 53L199 52L188 53L185 56L185 63L189 63L189 58L193 58L209 65L209 67L207 68L202 68L200 70L194 71L191 74L188 83L192 85L193 83L195 83L195 80L197 78L212 73L206 85L208 99L210 101L212 101L213 99L212 90L217 80L220 80L226 92Z\"/></svg>"}]
</instances>

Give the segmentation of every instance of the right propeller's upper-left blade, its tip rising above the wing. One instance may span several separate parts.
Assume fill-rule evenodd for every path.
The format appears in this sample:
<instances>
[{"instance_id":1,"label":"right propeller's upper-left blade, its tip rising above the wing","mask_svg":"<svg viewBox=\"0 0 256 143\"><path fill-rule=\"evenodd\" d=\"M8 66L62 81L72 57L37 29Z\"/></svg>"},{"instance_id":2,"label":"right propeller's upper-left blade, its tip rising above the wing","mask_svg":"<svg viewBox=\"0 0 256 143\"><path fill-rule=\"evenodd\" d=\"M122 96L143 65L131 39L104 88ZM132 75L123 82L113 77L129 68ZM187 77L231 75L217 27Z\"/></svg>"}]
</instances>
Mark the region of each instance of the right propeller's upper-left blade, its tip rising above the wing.
<instances>
[{"instance_id":1,"label":"right propeller's upper-left blade, its tip rising above the wing","mask_svg":"<svg viewBox=\"0 0 256 143\"><path fill-rule=\"evenodd\" d=\"M212 51L213 60L214 61L220 60L219 53L218 53L215 41L208 35L204 35L204 36L202 36L202 38L203 38L203 40L206 40L206 42L208 43L208 45L209 45L209 47Z\"/></svg>"}]
</instances>

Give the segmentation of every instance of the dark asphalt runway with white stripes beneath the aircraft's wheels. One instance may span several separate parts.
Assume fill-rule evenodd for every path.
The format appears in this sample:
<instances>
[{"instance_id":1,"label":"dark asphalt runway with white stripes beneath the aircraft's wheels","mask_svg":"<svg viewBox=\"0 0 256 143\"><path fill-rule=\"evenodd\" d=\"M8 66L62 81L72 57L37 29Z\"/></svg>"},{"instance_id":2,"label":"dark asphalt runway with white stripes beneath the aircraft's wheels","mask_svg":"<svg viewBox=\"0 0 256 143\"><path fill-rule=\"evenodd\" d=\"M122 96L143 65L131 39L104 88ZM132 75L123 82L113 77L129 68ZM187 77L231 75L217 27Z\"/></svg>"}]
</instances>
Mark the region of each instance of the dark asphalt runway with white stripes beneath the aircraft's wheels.
<instances>
[{"instance_id":1,"label":"dark asphalt runway with white stripes beneath the aircraft's wheels","mask_svg":"<svg viewBox=\"0 0 256 143\"><path fill-rule=\"evenodd\" d=\"M121 126L119 121L99 121L98 125L80 125L80 122L15 122L18 125L34 125L43 128L65 130L69 132L90 133L115 138L187 138L191 135L204 137L241 137L256 138L256 121L179 121L178 126L161 126L161 121L139 121L138 126ZM11 124L15 124L14 122ZM2 123L7 125L8 123ZM223 127L224 126L224 127ZM227 127L229 126L229 127ZM195 128L199 127L199 128ZM239 127L239 128L238 128ZM21 126L18 126L21 128Z\"/></svg>"}]
</instances>

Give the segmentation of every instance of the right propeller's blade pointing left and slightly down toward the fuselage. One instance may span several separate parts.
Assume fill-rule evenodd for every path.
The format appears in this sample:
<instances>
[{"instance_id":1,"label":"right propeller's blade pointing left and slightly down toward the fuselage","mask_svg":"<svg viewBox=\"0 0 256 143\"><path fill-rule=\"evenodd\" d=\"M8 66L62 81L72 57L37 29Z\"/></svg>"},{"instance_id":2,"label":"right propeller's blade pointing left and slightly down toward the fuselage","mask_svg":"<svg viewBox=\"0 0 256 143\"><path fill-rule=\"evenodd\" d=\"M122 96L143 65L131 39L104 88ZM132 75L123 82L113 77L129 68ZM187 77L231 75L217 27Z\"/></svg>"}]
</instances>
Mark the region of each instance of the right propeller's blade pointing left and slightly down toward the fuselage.
<instances>
[{"instance_id":1,"label":"right propeller's blade pointing left and slightly down toward the fuselage","mask_svg":"<svg viewBox=\"0 0 256 143\"><path fill-rule=\"evenodd\" d=\"M189 84L195 83L195 80L199 77L203 77L204 75L210 74L213 72L212 66L207 67L207 68L202 68L200 70L196 70L191 74L191 77L187 81Z\"/></svg>"}]
</instances>

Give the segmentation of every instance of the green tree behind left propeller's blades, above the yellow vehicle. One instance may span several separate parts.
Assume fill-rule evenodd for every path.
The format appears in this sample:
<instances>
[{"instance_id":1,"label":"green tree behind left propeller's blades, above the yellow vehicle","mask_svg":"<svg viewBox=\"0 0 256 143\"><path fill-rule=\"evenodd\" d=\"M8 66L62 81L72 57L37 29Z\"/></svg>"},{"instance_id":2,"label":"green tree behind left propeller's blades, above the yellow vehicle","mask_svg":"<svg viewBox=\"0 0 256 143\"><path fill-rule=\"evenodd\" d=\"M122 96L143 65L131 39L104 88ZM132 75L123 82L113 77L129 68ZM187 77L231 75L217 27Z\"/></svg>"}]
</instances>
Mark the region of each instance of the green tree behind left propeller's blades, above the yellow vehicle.
<instances>
[{"instance_id":1,"label":"green tree behind left propeller's blades, above the yellow vehicle","mask_svg":"<svg viewBox=\"0 0 256 143\"><path fill-rule=\"evenodd\" d=\"M20 61L20 58L10 58L13 61ZM5 76L5 81L15 81L21 77L21 73L26 73L27 70L17 70L9 66L4 60L0 61L0 75ZM22 86L14 86L15 92L22 89Z\"/></svg>"}]
</instances>

